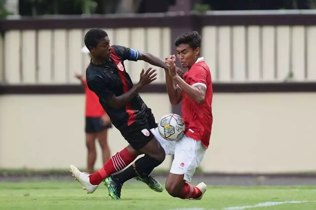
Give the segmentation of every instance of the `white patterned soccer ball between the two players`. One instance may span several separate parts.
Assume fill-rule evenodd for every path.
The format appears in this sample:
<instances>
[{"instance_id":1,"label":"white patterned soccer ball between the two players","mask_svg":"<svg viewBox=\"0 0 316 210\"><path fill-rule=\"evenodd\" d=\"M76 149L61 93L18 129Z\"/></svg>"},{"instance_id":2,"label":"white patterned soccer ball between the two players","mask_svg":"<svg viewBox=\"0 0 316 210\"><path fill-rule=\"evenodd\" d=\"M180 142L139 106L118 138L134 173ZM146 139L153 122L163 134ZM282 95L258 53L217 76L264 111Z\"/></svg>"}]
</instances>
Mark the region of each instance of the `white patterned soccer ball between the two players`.
<instances>
[{"instance_id":1,"label":"white patterned soccer ball between the two players","mask_svg":"<svg viewBox=\"0 0 316 210\"><path fill-rule=\"evenodd\" d=\"M167 114L161 118L158 131L164 139L176 141L184 136L185 124L180 115Z\"/></svg>"}]
</instances>

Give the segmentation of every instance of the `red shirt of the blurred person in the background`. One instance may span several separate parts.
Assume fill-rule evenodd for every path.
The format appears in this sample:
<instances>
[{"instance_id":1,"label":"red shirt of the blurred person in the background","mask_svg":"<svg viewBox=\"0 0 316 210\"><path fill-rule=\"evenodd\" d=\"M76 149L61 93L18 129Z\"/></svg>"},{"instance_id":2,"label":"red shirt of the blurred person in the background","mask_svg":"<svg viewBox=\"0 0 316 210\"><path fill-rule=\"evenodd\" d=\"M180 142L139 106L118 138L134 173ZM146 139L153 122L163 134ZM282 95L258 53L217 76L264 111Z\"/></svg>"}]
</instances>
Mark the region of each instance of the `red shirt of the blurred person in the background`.
<instances>
[{"instance_id":1,"label":"red shirt of the blurred person in the background","mask_svg":"<svg viewBox=\"0 0 316 210\"><path fill-rule=\"evenodd\" d=\"M102 117L105 111L99 102L99 97L88 88L86 80L83 83L86 93L86 117Z\"/></svg>"}]
</instances>

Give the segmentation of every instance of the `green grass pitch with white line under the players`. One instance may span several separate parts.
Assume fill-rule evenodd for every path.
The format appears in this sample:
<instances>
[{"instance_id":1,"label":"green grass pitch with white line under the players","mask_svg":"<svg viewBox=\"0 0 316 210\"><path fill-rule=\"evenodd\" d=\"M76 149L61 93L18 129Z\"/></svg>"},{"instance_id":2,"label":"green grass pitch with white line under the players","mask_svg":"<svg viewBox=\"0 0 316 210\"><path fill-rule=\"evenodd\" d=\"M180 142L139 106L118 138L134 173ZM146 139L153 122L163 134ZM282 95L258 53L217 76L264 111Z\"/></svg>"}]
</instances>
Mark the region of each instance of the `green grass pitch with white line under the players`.
<instances>
[{"instance_id":1,"label":"green grass pitch with white line under the players","mask_svg":"<svg viewBox=\"0 0 316 210\"><path fill-rule=\"evenodd\" d=\"M208 186L202 200L191 201L172 198L165 190L162 193L154 192L143 183L126 183L121 198L119 201L111 200L104 185L101 185L94 194L88 195L80 188L78 182L0 183L1 210L316 209L316 203L313 202L316 201L315 186ZM307 202L280 204L280 201Z\"/></svg>"}]
</instances>

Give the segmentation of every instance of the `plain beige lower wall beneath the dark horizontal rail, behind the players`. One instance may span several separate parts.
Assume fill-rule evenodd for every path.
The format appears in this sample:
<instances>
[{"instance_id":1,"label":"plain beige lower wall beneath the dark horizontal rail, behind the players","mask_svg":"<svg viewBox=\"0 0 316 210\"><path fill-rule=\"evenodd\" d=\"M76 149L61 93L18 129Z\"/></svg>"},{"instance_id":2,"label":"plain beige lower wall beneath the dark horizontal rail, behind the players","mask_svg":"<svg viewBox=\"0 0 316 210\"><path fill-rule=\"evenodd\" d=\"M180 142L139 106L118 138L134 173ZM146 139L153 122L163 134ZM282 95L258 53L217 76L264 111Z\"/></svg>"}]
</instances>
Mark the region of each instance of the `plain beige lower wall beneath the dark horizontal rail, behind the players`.
<instances>
[{"instance_id":1,"label":"plain beige lower wall beneath the dark horizontal rail, behind the players","mask_svg":"<svg viewBox=\"0 0 316 210\"><path fill-rule=\"evenodd\" d=\"M167 94L142 97L157 120L171 112ZM316 170L316 93L215 94L213 101L204 171ZM83 111L83 95L1 96L0 167L85 167ZM127 144L115 128L109 142L112 153ZM170 157L160 168L169 166Z\"/></svg>"}]
</instances>

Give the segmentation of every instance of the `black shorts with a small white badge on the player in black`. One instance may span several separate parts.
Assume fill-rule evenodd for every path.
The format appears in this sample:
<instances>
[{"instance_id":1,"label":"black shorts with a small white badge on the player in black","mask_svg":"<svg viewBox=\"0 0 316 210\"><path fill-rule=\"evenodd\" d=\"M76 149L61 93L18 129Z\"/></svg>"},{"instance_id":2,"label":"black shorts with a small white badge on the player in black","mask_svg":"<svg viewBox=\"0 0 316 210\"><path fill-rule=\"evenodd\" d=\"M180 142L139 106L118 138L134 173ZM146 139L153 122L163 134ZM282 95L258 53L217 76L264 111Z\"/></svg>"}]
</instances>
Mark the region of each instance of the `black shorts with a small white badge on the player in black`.
<instances>
[{"instance_id":1,"label":"black shorts with a small white badge on the player in black","mask_svg":"<svg viewBox=\"0 0 316 210\"><path fill-rule=\"evenodd\" d=\"M149 141L155 138L155 136L150 132L150 126L147 122L134 122L128 128L121 131L121 133L134 150L143 148Z\"/></svg>"}]
</instances>

